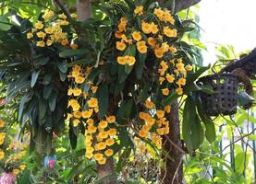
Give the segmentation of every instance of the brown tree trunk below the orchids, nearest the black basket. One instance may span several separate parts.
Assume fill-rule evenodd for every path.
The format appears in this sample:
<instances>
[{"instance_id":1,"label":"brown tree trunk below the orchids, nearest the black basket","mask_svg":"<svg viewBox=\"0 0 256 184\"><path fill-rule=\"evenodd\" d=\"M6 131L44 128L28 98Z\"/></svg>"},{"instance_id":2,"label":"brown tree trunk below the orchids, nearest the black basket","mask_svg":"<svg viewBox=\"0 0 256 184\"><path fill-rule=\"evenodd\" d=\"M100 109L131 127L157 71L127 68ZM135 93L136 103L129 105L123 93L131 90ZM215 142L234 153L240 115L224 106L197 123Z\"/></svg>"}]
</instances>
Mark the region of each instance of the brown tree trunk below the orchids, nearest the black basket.
<instances>
[{"instance_id":1,"label":"brown tree trunk below the orchids, nearest the black basket","mask_svg":"<svg viewBox=\"0 0 256 184\"><path fill-rule=\"evenodd\" d=\"M181 184L183 180L183 154L181 152L182 143L179 133L177 102L172 105L171 112L168 115L168 120L170 132L163 137L163 149L165 150L165 154L163 154L164 167L162 168L161 178L162 182L165 184Z\"/></svg>"}]
</instances>

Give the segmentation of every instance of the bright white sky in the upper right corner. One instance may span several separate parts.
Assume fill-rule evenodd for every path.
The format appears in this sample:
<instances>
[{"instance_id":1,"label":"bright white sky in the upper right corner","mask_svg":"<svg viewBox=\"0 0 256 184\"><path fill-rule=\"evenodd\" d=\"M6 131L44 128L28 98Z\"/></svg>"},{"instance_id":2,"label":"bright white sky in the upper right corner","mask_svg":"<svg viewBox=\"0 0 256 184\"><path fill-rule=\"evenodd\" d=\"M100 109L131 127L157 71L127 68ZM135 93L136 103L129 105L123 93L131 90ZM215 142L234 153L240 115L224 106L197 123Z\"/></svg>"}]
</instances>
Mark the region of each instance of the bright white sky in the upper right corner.
<instances>
[{"instance_id":1,"label":"bright white sky in the upper right corner","mask_svg":"<svg viewBox=\"0 0 256 184\"><path fill-rule=\"evenodd\" d=\"M204 65L214 63L214 48L231 44L235 52L256 48L256 0L201 0L201 40L207 46Z\"/></svg>"}]
</instances>

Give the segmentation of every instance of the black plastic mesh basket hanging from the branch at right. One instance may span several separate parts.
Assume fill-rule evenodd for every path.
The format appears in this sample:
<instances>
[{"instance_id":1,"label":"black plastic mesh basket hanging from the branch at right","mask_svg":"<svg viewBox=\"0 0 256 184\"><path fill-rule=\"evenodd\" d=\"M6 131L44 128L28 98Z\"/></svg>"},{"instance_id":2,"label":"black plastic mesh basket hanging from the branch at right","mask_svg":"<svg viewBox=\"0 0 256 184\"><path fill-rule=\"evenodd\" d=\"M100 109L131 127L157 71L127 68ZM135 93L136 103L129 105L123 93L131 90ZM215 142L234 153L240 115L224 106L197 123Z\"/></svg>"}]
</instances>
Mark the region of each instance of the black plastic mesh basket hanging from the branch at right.
<instances>
[{"instance_id":1,"label":"black plastic mesh basket hanging from the branch at right","mask_svg":"<svg viewBox=\"0 0 256 184\"><path fill-rule=\"evenodd\" d=\"M201 92L202 109L208 116L232 115L237 112L238 76L232 74L207 75L199 86L213 86L213 94Z\"/></svg>"}]
</instances>

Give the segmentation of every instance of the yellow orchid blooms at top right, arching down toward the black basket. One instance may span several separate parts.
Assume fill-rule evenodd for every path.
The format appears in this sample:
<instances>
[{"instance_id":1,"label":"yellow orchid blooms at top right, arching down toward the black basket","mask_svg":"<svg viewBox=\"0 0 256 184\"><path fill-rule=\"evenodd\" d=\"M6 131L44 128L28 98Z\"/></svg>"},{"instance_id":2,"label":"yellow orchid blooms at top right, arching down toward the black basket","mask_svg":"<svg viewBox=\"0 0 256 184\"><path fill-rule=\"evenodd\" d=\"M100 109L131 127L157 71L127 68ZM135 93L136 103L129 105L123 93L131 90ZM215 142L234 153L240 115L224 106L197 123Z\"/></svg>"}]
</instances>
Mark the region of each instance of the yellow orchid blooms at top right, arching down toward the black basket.
<instances>
[{"instance_id":1,"label":"yellow orchid blooms at top right, arching down toward the black basket","mask_svg":"<svg viewBox=\"0 0 256 184\"><path fill-rule=\"evenodd\" d=\"M192 66L185 65L182 58L174 57L177 48L173 45L173 39L178 36L175 18L168 9L159 7L150 12L143 11L143 6L136 6L134 18L140 18L139 26L136 26L137 22L135 25L129 22L126 17L121 17L117 25L117 63L132 66L138 61L136 54L131 52L133 46L140 54L153 52L155 60L159 61L158 75L163 95L168 96L171 87L175 87L177 94L182 95L187 72L192 70Z\"/></svg>"}]
</instances>

